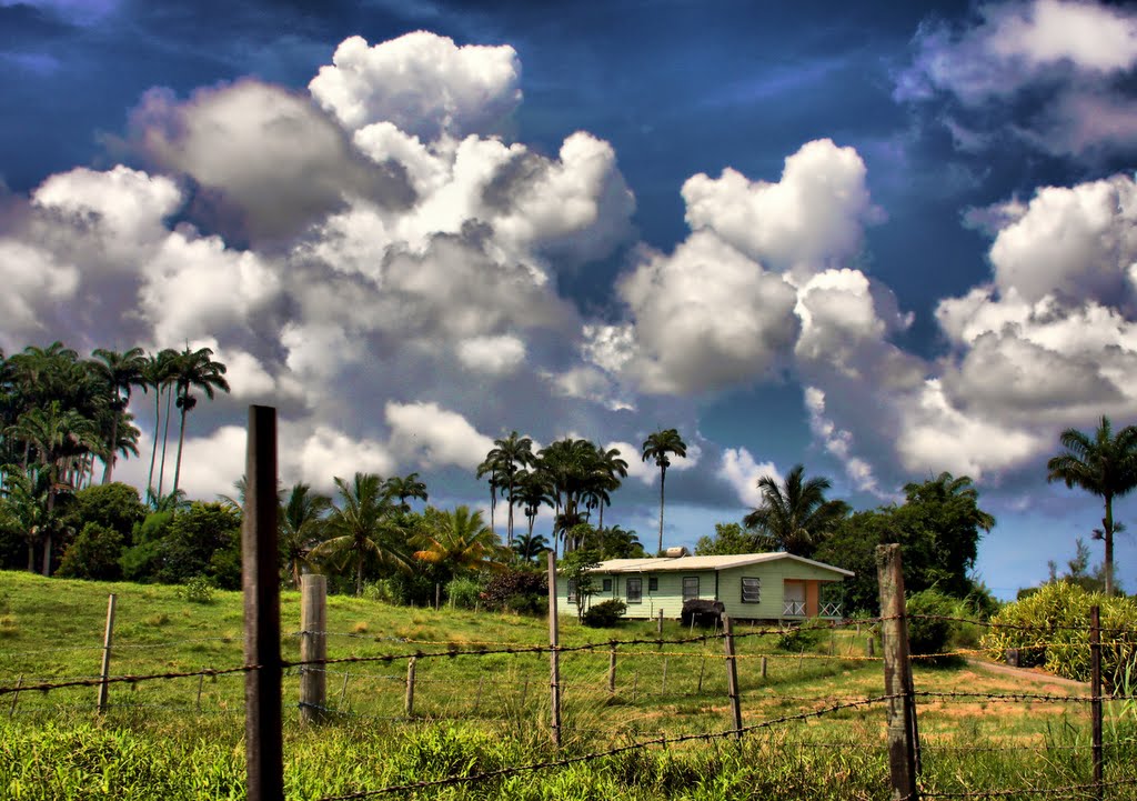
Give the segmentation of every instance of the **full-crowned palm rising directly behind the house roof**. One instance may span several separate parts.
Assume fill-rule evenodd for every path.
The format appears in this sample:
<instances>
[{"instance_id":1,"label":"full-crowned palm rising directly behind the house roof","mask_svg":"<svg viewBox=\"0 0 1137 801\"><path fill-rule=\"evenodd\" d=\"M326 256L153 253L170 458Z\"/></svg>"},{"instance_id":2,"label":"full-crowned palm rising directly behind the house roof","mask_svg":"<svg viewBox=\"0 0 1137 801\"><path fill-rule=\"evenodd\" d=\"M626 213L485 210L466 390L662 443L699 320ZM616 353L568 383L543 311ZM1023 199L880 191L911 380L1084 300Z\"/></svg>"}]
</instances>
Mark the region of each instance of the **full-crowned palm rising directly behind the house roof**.
<instances>
[{"instance_id":1,"label":"full-crowned palm rising directly behind the house roof","mask_svg":"<svg viewBox=\"0 0 1137 801\"><path fill-rule=\"evenodd\" d=\"M829 479L803 479L805 466L797 464L783 486L770 476L758 479L762 505L742 518L746 528L754 528L774 538L786 553L811 556L821 540L848 514L844 501L827 501Z\"/></svg>"}]
</instances>

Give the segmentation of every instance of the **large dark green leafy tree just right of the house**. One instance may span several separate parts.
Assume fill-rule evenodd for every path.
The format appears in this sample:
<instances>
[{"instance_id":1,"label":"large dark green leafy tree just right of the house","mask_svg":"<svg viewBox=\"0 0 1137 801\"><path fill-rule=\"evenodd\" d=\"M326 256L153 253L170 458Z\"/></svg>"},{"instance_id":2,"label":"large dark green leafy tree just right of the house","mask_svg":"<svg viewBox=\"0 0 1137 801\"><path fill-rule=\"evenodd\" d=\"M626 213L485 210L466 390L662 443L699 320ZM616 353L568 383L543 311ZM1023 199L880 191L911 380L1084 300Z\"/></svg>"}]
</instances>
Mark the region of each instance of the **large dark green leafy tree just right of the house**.
<instances>
[{"instance_id":1,"label":"large dark green leafy tree just right of the house","mask_svg":"<svg viewBox=\"0 0 1137 801\"><path fill-rule=\"evenodd\" d=\"M995 520L979 507L971 479L940 473L907 485L905 492L903 505L855 512L841 520L814 553L814 559L856 573L844 581L848 609L879 613L875 550L890 543L901 545L907 593L936 587L964 598L977 592L969 573L979 539Z\"/></svg>"}]
</instances>

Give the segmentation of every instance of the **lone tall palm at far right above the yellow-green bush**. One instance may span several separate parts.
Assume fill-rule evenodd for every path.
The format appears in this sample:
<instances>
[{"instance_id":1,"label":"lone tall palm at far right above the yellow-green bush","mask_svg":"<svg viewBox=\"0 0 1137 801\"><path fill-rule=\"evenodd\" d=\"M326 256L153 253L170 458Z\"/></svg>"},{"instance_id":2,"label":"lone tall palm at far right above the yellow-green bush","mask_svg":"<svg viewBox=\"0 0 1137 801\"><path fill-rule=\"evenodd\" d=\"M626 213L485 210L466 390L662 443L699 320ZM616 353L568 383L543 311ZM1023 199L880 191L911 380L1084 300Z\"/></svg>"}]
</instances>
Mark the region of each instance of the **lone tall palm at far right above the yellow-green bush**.
<instances>
[{"instance_id":1,"label":"lone tall palm at far right above the yellow-green bush","mask_svg":"<svg viewBox=\"0 0 1137 801\"><path fill-rule=\"evenodd\" d=\"M1065 451L1046 463L1046 480L1065 481L1067 487L1080 487L1105 502L1099 538L1105 540L1105 594L1112 595L1113 535L1118 531L1113 498L1137 487L1137 427L1126 426L1114 435L1110 419L1103 415L1093 438L1068 428L1059 443Z\"/></svg>"}]
</instances>

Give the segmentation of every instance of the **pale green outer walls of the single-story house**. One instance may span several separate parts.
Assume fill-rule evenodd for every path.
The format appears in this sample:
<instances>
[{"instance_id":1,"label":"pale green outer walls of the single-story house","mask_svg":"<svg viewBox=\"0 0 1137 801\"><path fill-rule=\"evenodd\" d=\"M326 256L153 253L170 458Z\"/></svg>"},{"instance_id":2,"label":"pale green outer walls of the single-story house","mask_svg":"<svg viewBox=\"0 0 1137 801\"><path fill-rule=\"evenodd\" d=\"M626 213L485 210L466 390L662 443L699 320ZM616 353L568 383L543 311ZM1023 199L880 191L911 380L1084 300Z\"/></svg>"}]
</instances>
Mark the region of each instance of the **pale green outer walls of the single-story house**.
<instances>
[{"instance_id":1,"label":"pale green outer walls of the single-story house","mask_svg":"<svg viewBox=\"0 0 1137 801\"><path fill-rule=\"evenodd\" d=\"M696 577L699 579L699 597L708 601L722 601L727 608L727 614L738 619L762 619L774 620L782 616L782 591L786 579L820 581L840 581L844 576L825 568L813 564L804 564L789 559L779 559L771 562L758 562L741 568L728 568L724 570L645 570L640 573L594 573L596 585L599 589L588 598L586 608L594 603L600 603L609 598L619 598L626 602L626 587L629 578L642 579L642 600L640 603L629 603L624 612L625 618L655 618L663 610L666 619L678 619L683 610L683 579ZM658 579L658 588L650 591L650 578ZM742 578L757 578L760 580L758 603L742 602ZM612 587L604 591L604 580L611 579ZM575 602L568 602L567 583L557 581L557 608L561 614L575 614Z\"/></svg>"}]
</instances>

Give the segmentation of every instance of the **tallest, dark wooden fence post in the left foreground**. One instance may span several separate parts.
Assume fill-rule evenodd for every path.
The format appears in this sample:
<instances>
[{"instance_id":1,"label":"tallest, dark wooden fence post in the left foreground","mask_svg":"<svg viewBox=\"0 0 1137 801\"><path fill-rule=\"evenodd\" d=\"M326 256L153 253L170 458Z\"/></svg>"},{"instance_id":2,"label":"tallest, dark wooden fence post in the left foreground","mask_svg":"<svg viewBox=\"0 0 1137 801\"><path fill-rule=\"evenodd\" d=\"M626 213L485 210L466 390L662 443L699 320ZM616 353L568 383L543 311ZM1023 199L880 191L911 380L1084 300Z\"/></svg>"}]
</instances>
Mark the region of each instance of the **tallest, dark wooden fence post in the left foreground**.
<instances>
[{"instance_id":1,"label":"tallest, dark wooden fence post in the left foreground","mask_svg":"<svg viewBox=\"0 0 1137 801\"><path fill-rule=\"evenodd\" d=\"M276 554L276 410L249 406L241 521L244 742L249 801L283 801L281 608Z\"/></svg>"}]
</instances>

